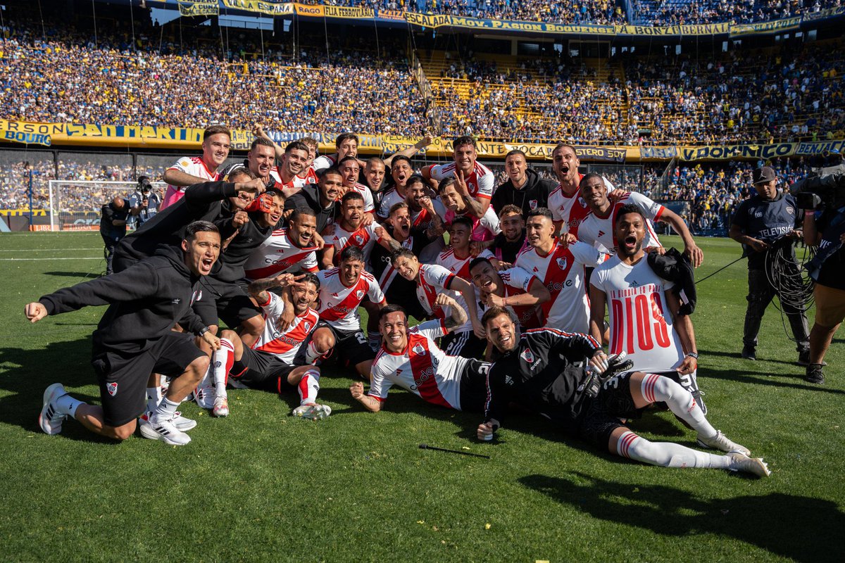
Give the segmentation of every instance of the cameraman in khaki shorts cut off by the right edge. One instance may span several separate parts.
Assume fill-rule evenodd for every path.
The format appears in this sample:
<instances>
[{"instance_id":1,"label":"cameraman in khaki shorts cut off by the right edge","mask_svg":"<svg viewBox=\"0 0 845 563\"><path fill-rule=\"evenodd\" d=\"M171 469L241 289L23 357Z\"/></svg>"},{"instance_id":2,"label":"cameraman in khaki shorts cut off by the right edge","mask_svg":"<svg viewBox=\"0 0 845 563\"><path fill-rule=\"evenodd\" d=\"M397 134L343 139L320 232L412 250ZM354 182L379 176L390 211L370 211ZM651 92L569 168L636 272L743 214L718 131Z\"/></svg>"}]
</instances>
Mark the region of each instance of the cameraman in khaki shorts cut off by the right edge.
<instances>
[{"instance_id":1,"label":"cameraman in khaki shorts cut off by the right edge","mask_svg":"<svg viewBox=\"0 0 845 563\"><path fill-rule=\"evenodd\" d=\"M821 371L833 334L845 319L845 207L826 208L820 217L804 215L804 242L819 246L820 268L811 270L815 279L815 323L810 332L810 365L804 379L824 383ZM814 261L815 262L815 261Z\"/></svg>"}]
</instances>

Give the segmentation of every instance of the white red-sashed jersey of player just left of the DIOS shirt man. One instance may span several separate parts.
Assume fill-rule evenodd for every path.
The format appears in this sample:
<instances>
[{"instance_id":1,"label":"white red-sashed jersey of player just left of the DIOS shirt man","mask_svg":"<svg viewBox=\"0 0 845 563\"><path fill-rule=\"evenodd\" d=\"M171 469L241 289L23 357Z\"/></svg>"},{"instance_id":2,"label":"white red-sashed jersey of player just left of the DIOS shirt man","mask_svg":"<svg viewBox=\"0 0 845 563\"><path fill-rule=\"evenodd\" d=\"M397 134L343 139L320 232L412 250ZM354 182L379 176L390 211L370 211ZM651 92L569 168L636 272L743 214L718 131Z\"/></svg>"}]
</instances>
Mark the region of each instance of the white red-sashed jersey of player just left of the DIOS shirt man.
<instances>
[{"instance_id":1,"label":"white red-sashed jersey of player just left of the DIOS shirt man","mask_svg":"<svg viewBox=\"0 0 845 563\"><path fill-rule=\"evenodd\" d=\"M546 326L568 333L589 333L590 301L584 285L585 266L597 266L606 255L583 242L570 246L554 243L542 256L528 247L516 257L515 266L537 276L552 299L542 305Z\"/></svg>"}]
</instances>

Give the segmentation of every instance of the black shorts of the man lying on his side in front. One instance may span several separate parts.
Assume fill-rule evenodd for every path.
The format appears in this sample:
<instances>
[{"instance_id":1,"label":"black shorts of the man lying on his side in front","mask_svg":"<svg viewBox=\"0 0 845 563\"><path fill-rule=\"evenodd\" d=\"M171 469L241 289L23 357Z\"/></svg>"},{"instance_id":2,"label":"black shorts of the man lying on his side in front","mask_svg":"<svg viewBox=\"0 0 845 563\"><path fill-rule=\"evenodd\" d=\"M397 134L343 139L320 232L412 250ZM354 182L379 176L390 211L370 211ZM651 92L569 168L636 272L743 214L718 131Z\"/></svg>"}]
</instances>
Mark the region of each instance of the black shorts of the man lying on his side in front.
<instances>
[{"instance_id":1,"label":"black shorts of the man lying on his side in front","mask_svg":"<svg viewBox=\"0 0 845 563\"><path fill-rule=\"evenodd\" d=\"M587 398L578 421L578 436L607 451L613 430L622 428L622 419L638 419L645 409L637 409L630 392L633 371L611 377L595 398Z\"/></svg>"}]
</instances>

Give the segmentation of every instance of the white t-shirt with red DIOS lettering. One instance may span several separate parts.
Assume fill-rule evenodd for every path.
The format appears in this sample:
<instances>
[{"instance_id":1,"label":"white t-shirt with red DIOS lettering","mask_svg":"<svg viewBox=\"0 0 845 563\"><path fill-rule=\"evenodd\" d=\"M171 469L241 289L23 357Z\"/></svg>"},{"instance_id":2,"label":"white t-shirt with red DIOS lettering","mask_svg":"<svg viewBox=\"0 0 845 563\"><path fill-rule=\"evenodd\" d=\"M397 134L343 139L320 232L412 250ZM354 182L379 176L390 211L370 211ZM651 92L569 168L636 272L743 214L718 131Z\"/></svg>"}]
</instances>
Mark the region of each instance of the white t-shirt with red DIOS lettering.
<instances>
[{"instance_id":1,"label":"white t-shirt with red DIOS lettering","mask_svg":"<svg viewBox=\"0 0 845 563\"><path fill-rule=\"evenodd\" d=\"M608 300L610 354L624 350L636 371L671 371L681 364L684 351L666 302L673 283L658 277L645 256L634 266L610 258L590 284Z\"/></svg>"}]
</instances>

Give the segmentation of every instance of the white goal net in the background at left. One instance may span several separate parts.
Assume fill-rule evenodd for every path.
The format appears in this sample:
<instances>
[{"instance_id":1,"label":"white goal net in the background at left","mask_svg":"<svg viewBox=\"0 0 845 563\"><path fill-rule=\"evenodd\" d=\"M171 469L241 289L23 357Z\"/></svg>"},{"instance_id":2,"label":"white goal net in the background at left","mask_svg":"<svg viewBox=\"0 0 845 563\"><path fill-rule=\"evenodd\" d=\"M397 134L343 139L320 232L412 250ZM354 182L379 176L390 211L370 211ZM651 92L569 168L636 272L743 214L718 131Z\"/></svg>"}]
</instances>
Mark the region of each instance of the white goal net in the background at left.
<instances>
[{"instance_id":1,"label":"white goal net in the background at left","mask_svg":"<svg viewBox=\"0 0 845 563\"><path fill-rule=\"evenodd\" d=\"M135 181L51 180L50 230L99 230L101 208L115 197L128 200ZM153 190L164 198L167 185L153 182Z\"/></svg>"}]
</instances>

